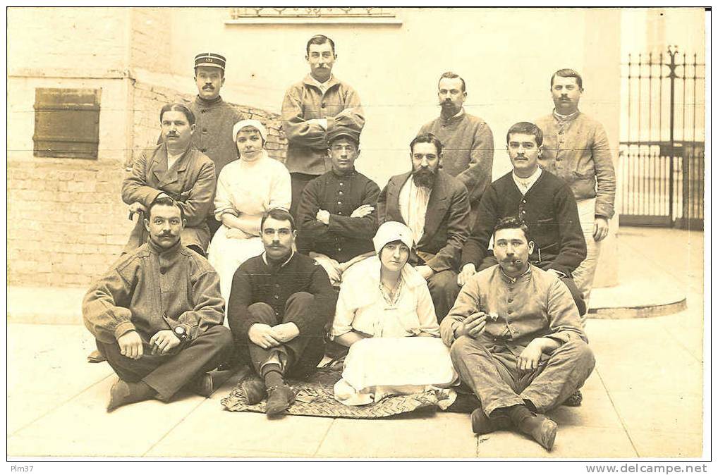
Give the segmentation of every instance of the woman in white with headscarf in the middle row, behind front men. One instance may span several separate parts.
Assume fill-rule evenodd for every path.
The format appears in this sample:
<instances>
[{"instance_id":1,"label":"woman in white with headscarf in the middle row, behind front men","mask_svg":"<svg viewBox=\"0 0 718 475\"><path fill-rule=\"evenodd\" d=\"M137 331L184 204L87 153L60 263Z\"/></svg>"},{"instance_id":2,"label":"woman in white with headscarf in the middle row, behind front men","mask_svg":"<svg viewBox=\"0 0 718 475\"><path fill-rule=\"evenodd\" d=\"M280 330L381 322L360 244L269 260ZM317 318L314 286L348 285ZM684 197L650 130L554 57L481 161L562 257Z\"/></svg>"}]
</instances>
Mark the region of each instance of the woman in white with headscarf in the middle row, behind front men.
<instances>
[{"instance_id":1,"label":"woman in white with headscarf in the middle row, behind front men","mask_svg":"<svg viewBox=\"0 0 718 475\"><path fill-rule=\"evenodd\" d=\"M210 264L220 276L220 291L229 301L232 278L248 258L264 251L259 225L271 208L289 209L292 179L286 166L264 150L267 133L259 121L245 120L232 131L239 158L220 171L215 218L222 222L208 249Z\"/></svg>"}]
</instances>

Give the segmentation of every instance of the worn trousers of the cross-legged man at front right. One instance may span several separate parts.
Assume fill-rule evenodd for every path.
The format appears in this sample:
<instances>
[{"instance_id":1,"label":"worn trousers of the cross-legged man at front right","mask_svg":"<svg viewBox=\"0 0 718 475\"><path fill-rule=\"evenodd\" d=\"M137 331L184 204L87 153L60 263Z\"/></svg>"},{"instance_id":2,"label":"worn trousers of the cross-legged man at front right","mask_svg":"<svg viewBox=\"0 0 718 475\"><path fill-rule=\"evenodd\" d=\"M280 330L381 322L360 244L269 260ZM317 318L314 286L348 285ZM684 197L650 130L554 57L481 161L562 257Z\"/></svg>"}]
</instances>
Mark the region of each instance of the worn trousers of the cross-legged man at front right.
<instances>
[{"instance_id":1,"label":"worn trousers of the cross-legged man at front right","mask_svg":"<svg viewBox=\"0 0 718 475\"><path fill-rule=\"evenodd\" d=\"M562 344L539 362L538 369L519 372L518 357L502 349L491 352L481 337L462 336L451 347L454 367L481 401L486 415L529 400L545 413L583 386L595 366L593 352L581 339Z\"/></svg>"}]
</instances>

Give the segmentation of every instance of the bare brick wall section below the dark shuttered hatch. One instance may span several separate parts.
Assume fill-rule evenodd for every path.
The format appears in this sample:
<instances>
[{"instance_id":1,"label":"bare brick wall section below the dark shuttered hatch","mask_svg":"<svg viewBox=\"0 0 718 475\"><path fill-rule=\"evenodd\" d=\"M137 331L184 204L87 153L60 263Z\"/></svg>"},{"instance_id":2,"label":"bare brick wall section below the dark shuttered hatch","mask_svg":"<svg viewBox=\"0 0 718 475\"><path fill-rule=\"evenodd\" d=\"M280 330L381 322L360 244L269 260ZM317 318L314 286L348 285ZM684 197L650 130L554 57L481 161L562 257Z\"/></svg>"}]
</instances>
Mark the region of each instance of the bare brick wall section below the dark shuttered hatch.
<instances>
[{"instance_id":1,"label":"bare brick wall section below the dark shuttered hatch","mask_svg":"<svg viewBox=\"0 0 718 475\"><path fill-rule=\"evenodd\" d=\"M10 161L8 283L78 286L105 271L131 229L118 163Z\"/></svg>"}]
</instances>

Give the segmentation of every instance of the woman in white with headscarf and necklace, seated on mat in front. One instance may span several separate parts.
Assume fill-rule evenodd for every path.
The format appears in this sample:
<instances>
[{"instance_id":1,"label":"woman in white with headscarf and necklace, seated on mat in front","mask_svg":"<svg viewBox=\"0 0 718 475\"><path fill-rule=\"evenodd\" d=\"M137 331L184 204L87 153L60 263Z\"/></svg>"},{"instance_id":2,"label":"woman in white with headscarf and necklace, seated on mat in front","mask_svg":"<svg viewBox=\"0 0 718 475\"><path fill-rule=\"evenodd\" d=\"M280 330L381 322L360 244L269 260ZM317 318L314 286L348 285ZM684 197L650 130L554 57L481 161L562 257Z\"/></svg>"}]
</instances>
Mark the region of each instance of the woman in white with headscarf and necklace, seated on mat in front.
<instances>
[{"instance_id":1,"label":"woman in white with headscarf and necklace, seated on mat in front","mask_svg":"<svg viewBox=\"0 0 718 475\"><path fill-rule=\"evenodd\" d=\"M355 264L342 281L330 332L335 342L350 347L334 387L335 398L346 405L447 388L458 379L449 349L438 338L426 280L406 263L414 244L411 230L385 222L373 243L377 255ZM456 395L442 391L448 406Z\"/></svg>"}]
</instances>

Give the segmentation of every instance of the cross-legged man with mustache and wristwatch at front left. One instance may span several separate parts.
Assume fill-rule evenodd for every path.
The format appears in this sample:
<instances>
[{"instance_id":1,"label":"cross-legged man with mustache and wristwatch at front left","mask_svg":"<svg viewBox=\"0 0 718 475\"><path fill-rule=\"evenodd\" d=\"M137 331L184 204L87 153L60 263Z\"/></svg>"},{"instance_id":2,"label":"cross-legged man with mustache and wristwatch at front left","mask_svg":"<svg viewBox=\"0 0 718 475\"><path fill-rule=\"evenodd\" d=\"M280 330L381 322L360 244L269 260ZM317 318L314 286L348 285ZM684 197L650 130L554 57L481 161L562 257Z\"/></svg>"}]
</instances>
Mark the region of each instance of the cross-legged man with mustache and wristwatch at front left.
<instances>
[{"instance_id":1,"label":"cross-legged man with mustache and wristwatch at front left","mask_svg":"<svg viewBox=\"0 0 718 475\"><path fill-rule=\"evenodd\" d=\"M232 342L222 326L224 301L215 270L180 242L185 216L169 197L149 204L149 242L123 255L90 287L85 326L120 380L110 390L111 411L181 387L209 396L213 370Z\"/></svg>"}]
</instances>

